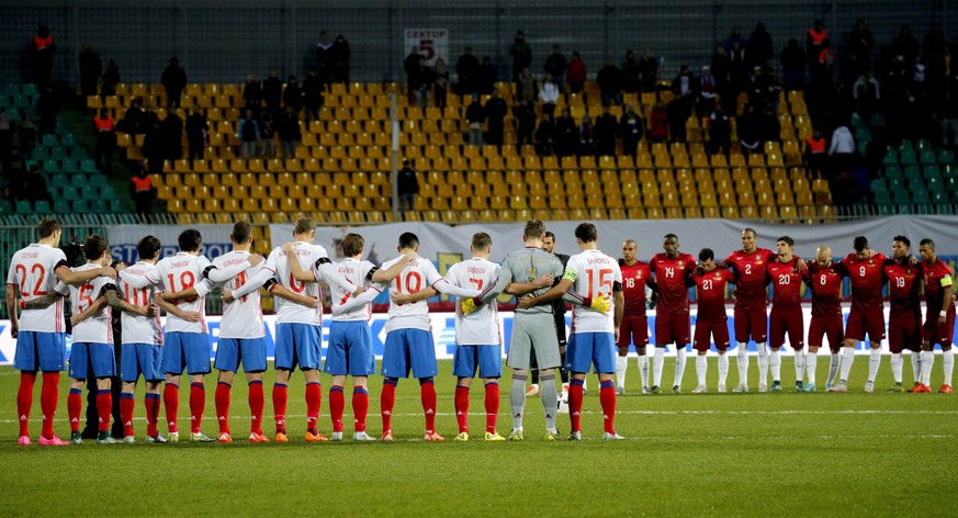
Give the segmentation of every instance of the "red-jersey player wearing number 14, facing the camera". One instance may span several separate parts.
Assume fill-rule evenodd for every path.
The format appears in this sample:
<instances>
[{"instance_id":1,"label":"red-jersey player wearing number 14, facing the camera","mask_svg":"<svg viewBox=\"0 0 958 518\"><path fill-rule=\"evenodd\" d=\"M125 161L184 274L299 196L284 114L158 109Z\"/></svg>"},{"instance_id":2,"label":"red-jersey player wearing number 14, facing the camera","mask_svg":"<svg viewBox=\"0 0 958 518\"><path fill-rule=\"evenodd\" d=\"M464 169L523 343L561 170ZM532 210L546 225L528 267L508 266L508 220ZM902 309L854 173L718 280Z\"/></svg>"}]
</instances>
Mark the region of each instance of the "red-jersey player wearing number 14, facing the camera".
<instances>
[{"instance_id":1,"label":"red-jersey player wearing number 14, facing the camera","mask_svg":"<svg viewBox=\"0 0 958 518\"><path fill-rule=\"evenodd\" d=\"M675 344L675 382L672 392L681 391L685 348L691 335L686 277L696 268L696 260L691 255L678 251L678 236L675 234L665 235L662 248L665 252L656 254L649 261L658 290L658 304L655 306L655 361L652 365L653 394L661 392L658 384L662 381L665 347L669 344Z\"/></svg>"}]
</instances>

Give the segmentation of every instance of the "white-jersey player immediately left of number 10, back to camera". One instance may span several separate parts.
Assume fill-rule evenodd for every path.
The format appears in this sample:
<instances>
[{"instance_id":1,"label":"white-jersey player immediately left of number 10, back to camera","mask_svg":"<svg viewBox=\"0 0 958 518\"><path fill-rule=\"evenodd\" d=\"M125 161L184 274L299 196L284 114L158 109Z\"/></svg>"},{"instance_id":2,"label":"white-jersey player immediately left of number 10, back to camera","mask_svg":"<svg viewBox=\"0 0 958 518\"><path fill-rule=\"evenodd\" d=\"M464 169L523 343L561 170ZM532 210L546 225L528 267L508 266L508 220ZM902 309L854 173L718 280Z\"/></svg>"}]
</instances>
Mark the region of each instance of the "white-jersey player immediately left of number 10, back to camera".
<instances>
[{"instance_id":1,"label":"white-jersey player immediately left of number 10, back to camera","mask_svg":"<svg viewBox=\"0 0 958 518\"><path fill-rule=\"evenodd\" d=\"M365 240L359 234L347 234L342 237L342 254L346 259L335 264L336 271L349 282L350 290L331 286L333 301L345 303L357 288L365 288L372 294L382 292L377 284L388 283L409 262L409 256L404 256L388 270L380 270L375 264L362 259ZM294 261L292 244L283 246L289 258L290 271L293 277L303 282L316 282L322 272L314 264L313 271L302 268L300 261ZM346 384L346 375L352 376L352 413L354 431L353 440L372 441L365 431L365 417L369 413L369 375L375 372L375 352L372 345L372 333L369 319L372 316L369 304L350 309L349 312L337 311L342 306L334 306L333 324L329 326L329 348L326 351L326 363L323 370L333 376L329 386L329 417L333 419L333 440L342 440L342 413L346 407L346 396L342 386Z\"/></svg>"}]
</instances>

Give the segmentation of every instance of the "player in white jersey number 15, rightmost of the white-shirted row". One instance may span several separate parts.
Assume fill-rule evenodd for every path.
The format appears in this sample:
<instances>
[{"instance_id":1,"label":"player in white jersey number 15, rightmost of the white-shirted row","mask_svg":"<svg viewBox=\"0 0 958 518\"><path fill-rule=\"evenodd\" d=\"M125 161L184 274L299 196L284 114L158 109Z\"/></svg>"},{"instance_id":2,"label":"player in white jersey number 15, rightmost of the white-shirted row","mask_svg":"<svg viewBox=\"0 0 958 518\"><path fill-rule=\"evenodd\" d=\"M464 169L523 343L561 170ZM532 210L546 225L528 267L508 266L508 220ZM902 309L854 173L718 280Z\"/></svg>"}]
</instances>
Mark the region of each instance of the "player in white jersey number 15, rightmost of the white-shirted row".
<instances>
[{"instance_id":1,"label":"player in white jersey number 15, rightmost of the white-shirted row","mask_svg":"<svg viewBox=\"0 0 958 518\"><path fill-rule=\"evenodd\" d=\"M520 306L533 306L543 301L563 296L570 290L584 294L573 307L572 337L565 357L565 369L572 373L568 390L568 415L572 421L570 440L582 440L583 382L589 368L595 365L599 374L599 402L602 406L606 440L622 439L616 433L616 342L622 323L624 297L622 272L619 262L598 249L599 235L591 223L582 223L575 228L575 241L582 254L572 256L565 267L562 281L546 293L520 301ZM611 314L589 309L594 299L611 296Z\"/></svg>"}]
</instances>

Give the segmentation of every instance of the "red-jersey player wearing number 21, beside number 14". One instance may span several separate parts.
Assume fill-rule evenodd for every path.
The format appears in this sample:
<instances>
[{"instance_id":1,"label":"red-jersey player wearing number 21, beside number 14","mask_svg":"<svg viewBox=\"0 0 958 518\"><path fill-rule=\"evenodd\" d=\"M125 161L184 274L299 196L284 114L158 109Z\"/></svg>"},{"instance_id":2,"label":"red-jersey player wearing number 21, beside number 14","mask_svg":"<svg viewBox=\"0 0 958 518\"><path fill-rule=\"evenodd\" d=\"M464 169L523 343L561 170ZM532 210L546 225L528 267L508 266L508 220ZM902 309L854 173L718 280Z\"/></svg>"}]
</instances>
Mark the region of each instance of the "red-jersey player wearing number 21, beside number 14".
<instances>
[{"instance_id":1,"label":"red-jersey player wearing number 21, beside number 14","mask_svg":"<svg viewBox=\"0 0 958 518\"><path fill-rule=\"evenodd\" d=\"M711 339L714 339L715 349L719 351L719 392L726 392L729 357L725 352L729 350L729 316L725 314L725 285L734 279L731 271L718 268L715 252L711 248L702 248L699 252L699 267L686 281L689 286L696 286L696 300L699 303L695 337L695 348L698 351L696 374L699 384L692 394L706 392L706 375L709 369L706 354L709 352Z\"/></svg>"}]
</instances>

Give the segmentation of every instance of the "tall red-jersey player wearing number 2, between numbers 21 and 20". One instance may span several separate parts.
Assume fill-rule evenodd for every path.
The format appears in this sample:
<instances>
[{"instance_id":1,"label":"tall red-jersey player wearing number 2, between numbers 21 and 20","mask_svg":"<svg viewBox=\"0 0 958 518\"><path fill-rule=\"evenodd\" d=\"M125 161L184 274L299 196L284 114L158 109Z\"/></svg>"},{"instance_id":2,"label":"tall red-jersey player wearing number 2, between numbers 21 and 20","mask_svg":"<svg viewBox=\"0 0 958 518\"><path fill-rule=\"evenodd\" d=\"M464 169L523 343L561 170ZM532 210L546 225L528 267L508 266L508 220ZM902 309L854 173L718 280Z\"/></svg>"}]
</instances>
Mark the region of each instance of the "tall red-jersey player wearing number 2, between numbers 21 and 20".
<instances>
[{"instance_id":1,"label":"tall red-jersey player wearing number 2, between numbers 21 and 20","mask_svg":"<svg viewBox=\"0 0 958 518\"><path fill-rule=\"evenodd\" d=\"M768 322L765 308L768 292L765 284L765 267L775 252L755 246L757 234L753 228L742 230L742 249L725 258L723 266L735 273L735 341L739 351L739 385L732 392L748 392L748 339L758 349L758 392L767 388L768 352L765 341L768 337Z\"/></svg>"}]
</instances>

